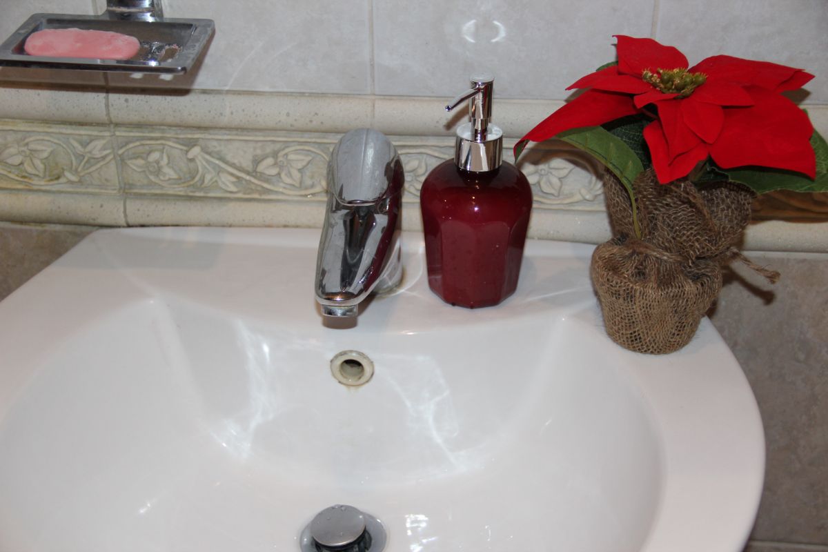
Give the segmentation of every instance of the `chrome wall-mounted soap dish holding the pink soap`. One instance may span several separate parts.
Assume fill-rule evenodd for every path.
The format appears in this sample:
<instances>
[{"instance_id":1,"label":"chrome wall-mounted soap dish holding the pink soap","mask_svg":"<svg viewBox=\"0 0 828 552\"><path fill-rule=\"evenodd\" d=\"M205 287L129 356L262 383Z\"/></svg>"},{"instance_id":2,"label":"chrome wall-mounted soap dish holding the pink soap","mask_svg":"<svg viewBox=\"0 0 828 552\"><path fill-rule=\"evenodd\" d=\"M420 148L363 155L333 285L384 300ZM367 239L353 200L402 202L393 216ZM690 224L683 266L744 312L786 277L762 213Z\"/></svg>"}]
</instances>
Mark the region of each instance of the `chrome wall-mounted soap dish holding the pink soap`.
<instances>
[{"instance_id":1,"label":"chrome wall-mounted soap dish holding the pink soap","mask_svg":"<svg viewBox=\"0 0 828 552\"><path fill-rule=\"evenodd\" d=\"M140 43L128 60L28 55L26 39L45 29L78 28L134 36ZM107 0L99 16L36 13L0 45L0 66L41 69L184 74L195 64L215 31L211 19L163 17L161 0Z\"/></svg>"}]
</instances>

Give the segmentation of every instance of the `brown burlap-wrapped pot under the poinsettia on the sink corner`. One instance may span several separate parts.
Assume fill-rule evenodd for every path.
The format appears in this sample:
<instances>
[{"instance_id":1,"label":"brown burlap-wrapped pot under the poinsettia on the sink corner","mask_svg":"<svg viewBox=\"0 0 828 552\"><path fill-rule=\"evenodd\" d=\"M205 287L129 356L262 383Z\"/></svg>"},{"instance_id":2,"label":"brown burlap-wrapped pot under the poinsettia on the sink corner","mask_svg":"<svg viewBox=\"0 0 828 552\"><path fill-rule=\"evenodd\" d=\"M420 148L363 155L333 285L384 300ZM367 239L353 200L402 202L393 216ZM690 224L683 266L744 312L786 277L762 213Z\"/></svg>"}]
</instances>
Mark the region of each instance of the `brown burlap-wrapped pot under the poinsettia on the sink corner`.
<instances>
[{"instance_id":1,"label":"brown burlap-wrapped pot under the poinsettia on the sink corner","mask_svg":"<svg viewBox=\"0 0 828 552\"><path fill-rule=\"evenodd\" d=\"M590 266L607 334L639 353L672 353L690 342L721 289L721 266L738 255L753 192L742 185L688 180L661 185L652 170L633 184L641 235L629 194L609 170L604 194L614 238Z\"/></svg>"}]
</instances>

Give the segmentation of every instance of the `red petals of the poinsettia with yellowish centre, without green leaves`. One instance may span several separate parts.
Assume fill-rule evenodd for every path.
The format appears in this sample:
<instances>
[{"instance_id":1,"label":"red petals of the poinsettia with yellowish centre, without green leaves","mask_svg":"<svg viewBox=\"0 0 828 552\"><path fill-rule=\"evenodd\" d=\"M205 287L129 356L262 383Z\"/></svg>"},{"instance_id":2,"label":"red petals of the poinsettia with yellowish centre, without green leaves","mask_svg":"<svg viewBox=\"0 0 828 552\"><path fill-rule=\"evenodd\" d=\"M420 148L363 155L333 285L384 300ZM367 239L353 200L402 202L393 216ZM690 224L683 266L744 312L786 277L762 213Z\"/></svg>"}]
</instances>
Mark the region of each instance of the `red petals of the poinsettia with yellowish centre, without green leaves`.
<instances>
[{"instance_id":1,"label":"red petals of the poinsettia with yellowish centre, without green leaves","mask_svg":"<svg viewBox=\"0 0 828 552\"><path fill-rule=\"evenodd\" d=\"M710 156L730 169L764 166L814 178L813 127L781 92L812 74L766 61L714 55L688 68L672 46L617 36L618 65L595 71L569 89L588 89L518 142L542 142L560 132L646 113L644 128L658 180L688 175Z\"/></svg>"}]
</instances>

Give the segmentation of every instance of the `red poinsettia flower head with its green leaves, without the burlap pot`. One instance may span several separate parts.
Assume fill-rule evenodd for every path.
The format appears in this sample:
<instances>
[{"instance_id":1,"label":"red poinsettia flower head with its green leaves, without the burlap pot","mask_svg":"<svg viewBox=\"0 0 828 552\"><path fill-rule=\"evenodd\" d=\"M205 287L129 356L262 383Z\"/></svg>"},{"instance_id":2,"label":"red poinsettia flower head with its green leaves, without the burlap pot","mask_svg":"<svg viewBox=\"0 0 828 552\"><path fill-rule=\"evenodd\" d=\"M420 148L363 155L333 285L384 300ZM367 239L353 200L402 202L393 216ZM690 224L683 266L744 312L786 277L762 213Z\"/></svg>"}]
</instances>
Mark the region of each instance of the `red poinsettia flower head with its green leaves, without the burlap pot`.
<instances>
[{"instance_id":1,"label":"red poinsettia flower head with its green leaves, without the burlap pot","mask_svg":"<svg viewBox=\"0 0 828 552\"><path fill-rule=\"evenodd\" d=\"M517 142L516 159L527 142L556 137L603 162L631 195L633 180L651 167L662 184L828 190L828 144L782 95L812 74L729 55L690 67L672 46L616 38L618 60L572 84L585 91Z\"/></svg>"}]
</instances>

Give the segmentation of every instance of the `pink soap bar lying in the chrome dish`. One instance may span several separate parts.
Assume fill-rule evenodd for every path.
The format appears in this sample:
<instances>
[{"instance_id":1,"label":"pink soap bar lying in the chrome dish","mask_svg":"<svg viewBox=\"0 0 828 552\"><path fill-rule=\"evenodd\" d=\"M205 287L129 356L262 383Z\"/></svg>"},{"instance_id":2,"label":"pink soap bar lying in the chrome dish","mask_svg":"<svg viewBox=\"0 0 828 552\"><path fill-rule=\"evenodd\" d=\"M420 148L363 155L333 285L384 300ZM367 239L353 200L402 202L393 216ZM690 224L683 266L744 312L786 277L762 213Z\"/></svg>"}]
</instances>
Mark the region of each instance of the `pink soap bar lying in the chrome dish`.
<instances>
[{"instance_id":1,"label":"pink soap bar lying in the chrome dish","mask_svg":"<svg viewBox=\"0 0 828 552\"><path fill-rule=\"evenodd\" d=\"M28 55L128 60L141 44L134 36L89 29L44 29L31 33L23 46Z\"/></svg>"}]
</instances>

